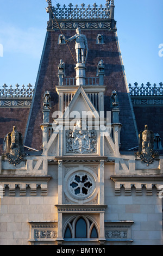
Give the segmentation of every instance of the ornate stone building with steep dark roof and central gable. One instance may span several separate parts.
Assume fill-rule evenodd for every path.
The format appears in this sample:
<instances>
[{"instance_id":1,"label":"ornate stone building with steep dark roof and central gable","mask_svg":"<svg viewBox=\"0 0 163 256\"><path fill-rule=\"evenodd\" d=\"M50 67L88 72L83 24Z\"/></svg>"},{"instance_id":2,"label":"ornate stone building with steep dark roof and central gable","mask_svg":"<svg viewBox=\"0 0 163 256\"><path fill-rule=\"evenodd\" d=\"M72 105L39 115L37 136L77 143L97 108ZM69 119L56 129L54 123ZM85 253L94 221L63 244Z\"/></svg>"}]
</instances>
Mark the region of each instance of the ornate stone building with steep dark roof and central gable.
<instances>
[{"instance_id":1,"label":"ornate stone building with steep dark roof and central gable","mask_svg":"<svg viewBox=\"0 0 163 256\"><path fill-rule=\"evenodd\" d=\"M0 91L1 245L162 245L162 84L128 86L114 9L48 1L35 88Z\"/></svg>"}]
</instances>

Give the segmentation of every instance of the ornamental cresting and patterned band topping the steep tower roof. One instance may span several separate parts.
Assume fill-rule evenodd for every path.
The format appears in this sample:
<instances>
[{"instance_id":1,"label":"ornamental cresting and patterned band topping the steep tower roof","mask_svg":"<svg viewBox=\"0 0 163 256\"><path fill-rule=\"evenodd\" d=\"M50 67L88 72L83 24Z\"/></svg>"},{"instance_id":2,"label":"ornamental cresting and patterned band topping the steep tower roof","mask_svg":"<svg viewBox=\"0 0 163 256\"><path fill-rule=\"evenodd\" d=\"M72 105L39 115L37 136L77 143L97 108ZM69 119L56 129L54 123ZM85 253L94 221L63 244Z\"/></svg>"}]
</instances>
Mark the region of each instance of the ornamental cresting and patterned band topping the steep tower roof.
<instances>
[{"instance_id":1,"label":"ornamental cresting and patterned band topping the steep tower roof","mask_svg":"<svg viewBox=\"0 0 163 256\"><path fill-rule=\"evenodd\" d=\"M111 2L111 4L110 4ZM114 20L114 1L108 0L103 6L96 3L90 5L77 4L75 7L70 3L67 7L57 4L56 7L49 5L48 30L53 29L109 29L116 31L116 21Z\"/></svg>"}]
</instances>

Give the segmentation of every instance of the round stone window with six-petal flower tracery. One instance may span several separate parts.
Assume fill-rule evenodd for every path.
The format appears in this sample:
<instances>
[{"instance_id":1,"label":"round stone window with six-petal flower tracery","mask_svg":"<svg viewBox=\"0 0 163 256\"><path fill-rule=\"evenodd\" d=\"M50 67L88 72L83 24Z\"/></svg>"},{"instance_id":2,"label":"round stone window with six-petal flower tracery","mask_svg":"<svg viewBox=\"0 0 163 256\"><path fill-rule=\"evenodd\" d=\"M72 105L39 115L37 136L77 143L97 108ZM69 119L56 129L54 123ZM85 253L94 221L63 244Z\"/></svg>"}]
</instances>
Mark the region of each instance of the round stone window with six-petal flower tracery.
<instances>
[{"instance_id":1,"label":"round stone window with six-petal flower tracery","mask_svg":"<svg viewBox=\"0 0 163 256\"><path fill-rule=\"evenodd\" d=\"M95 190L95 179L88 173L78 172L71 175L68 188L73 197L84 199L91 196Z\"/></svg>"}]
</instances>

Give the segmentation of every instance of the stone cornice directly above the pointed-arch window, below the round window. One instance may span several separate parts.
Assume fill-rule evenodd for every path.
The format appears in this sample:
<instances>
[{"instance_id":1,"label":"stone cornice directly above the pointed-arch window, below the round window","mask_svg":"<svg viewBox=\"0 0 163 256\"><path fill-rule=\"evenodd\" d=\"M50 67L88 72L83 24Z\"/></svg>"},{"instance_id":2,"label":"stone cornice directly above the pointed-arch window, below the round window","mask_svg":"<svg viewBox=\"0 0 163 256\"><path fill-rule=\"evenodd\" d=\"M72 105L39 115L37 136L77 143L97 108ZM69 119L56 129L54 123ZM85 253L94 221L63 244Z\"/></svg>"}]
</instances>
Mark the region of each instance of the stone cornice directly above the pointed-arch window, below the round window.
<instances>
[{"instance_id":1,"label":"stone cornice directly above the pointed-arch window, below the round window","mask_svg":"<svg viewBox=\"0 0 163 256\"><path fill-rule=\"evenodd\" d=\"M62 205L55 205L58 212L68 212L68 213L87 213L87 212L105 212L105 209L108 207L108 205L93 205L93 204L85 204L85 205L79 205L79 204L62 204Z\"/></svg>"}]
</instances>

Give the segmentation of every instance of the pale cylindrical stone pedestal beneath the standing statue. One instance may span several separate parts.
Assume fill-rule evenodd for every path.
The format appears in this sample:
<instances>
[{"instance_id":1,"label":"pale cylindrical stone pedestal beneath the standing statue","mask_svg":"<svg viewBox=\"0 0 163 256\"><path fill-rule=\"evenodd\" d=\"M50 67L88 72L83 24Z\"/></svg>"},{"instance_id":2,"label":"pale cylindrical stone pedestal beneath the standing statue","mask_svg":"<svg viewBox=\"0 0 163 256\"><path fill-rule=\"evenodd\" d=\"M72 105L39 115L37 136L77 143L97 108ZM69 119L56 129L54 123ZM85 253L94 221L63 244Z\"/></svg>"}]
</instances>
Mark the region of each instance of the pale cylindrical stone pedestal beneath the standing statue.
<instances>
[{"instance_id":1,"label":"pale cylindrical stone pedestal beneath the standing statue","mask_svg":"<svg viewBox=\"0 0 163 256\"><path fill-rule=\"evenodd\" d=\"M77 63L76 64L76 85L77 86L85 86L85 64Z\"/></svg>"}]
</instances>

